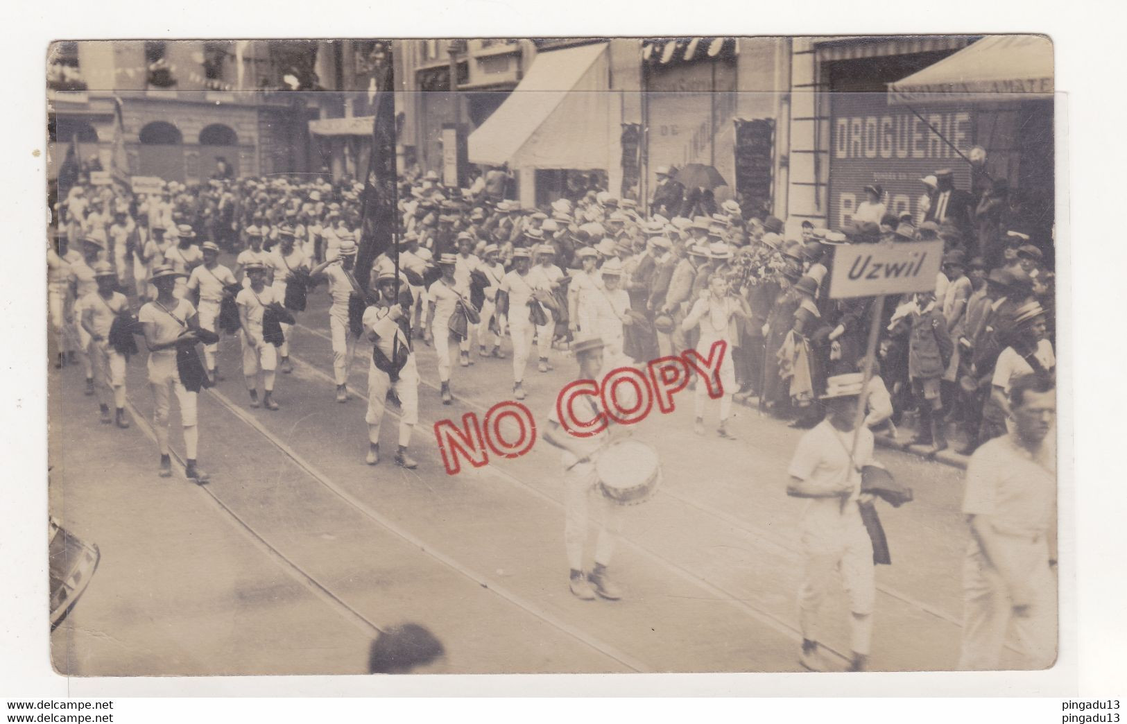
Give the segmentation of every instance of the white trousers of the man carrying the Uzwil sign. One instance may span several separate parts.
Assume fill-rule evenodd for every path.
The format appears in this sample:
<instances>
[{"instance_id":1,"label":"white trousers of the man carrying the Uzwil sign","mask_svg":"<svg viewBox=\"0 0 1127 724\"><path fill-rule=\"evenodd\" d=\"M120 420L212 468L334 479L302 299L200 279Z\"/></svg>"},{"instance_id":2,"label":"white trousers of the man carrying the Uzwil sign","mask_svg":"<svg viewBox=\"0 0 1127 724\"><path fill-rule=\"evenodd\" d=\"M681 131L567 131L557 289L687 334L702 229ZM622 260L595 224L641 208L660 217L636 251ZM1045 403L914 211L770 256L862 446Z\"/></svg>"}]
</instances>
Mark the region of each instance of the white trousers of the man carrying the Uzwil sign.
<instances>
[{"instance_id":1,"label":"white trousers of the man carrying the Uzwil sign","mask_svg":"<svg viewBox=\"0 0 1127 724\"><path fill-rule=\"evenodd\" d=\"M850 645L854 653L868 654L872 638L872 608L877 593L872 541L860 515L832 541L811 542L804 537L802 584L798 591L799 628L802 638L820 641L819 613L826 592L841 573L850 602Z\"/></svg>"}]
</instances>

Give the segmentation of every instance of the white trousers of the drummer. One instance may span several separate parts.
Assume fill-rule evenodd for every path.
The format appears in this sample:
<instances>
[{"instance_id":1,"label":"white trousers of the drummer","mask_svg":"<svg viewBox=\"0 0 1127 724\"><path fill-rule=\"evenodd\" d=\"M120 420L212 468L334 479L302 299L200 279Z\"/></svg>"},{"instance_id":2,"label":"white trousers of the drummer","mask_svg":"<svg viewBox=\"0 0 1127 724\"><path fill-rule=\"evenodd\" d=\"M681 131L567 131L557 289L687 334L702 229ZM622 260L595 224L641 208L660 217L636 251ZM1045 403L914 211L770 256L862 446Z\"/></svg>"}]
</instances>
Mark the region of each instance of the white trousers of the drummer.
<instances>
[{"instance_id":1,"label":"white trousers of the drummer","mask_svg":"<svg viewBox=\"0 0 1127 724\"><path fill-rule=\"evenodd\" d=\"M564 467L575 462L575 457L564 456ZM595 541L595 563L610 565L614 547L622 528L622 509L598 492L598 476L595 466L583 462L564 474L564 542L567 547L567 563L573 571L583 571L583 549L587 542L587 522L591 506L600 511L598 538Z\"/></svg>"}]
</instances>

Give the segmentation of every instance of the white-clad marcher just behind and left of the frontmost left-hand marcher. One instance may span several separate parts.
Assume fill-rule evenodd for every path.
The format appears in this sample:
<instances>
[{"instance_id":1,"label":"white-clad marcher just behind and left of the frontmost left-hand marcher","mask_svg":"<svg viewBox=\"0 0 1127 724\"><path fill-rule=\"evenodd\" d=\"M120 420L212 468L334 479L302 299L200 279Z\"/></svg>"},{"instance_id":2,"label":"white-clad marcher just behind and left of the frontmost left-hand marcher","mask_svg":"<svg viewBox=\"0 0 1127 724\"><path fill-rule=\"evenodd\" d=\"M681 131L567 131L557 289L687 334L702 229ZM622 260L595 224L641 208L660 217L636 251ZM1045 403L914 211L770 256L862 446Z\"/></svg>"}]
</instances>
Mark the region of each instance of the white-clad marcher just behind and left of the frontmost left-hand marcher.
<instances>
[{"instance_id":1,"label":"white-clad marcher just behind and left of the frontmost left-hand marcher","mask_svg":"<svg viewBox=\"0 0 1127 724\"><path fill-rule=\"evenodd\" d=\"M117 286L117 274L109 262L98 262L94 265L98 290L87 294L82 301L82 316L79 324L90 336L90 356L97 376L98 409L101 422L106 425L114 422L109 416L109 403L114 403L118 427L128 427L125 420L125 356L109 344L109 328L122 311L130 308L125 294L114 291Z\"/></svg>"}]
</instances>

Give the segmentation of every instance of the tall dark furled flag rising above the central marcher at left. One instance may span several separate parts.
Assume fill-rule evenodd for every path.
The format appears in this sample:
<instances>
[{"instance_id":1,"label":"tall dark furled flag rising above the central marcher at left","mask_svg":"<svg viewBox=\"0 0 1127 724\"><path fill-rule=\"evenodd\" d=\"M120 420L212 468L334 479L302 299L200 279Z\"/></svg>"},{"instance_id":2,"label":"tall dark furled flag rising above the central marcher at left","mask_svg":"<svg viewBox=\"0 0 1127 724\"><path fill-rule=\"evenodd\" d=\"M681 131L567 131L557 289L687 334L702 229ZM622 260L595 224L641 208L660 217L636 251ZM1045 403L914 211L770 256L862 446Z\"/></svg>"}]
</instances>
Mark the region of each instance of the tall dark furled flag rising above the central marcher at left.
<instances>
[{"instance_id":1,"label":"tall dark furled flag rising above the central marcher at left","mask_svg":"<svg viewBox=\"0 0 1127 724\"><path fill-rule=\"evenodd\" d=\"M366 291L372 263L389 253L398 271L396 184L396 95L391 68L391 42L375 44L372 51L372 78L375 81L375 117L372 122L372 152L361 206L361 238L356 253L356 281Z\"/></svg>"}]
</instances>

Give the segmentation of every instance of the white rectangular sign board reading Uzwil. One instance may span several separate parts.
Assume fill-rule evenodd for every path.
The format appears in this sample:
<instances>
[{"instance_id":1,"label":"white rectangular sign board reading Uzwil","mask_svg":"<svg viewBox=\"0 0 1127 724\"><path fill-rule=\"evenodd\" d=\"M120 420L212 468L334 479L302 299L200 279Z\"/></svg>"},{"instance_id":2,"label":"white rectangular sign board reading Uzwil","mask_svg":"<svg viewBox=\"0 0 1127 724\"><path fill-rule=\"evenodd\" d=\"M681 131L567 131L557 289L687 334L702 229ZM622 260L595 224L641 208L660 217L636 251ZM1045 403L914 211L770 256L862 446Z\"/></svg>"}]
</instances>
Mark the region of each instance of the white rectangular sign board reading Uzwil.
<instances>
[{"instance_id":1,"label":"white rectangular sign board reading Uzwil","mask_svg":"<svg viewBox=\"0 0 1127 724\"><path fill-rule=\"evenodd\" d=\"M853 244L834 248L829 295L876 297L935 290L943 242Z\"/></svg>"}]
</instances>

